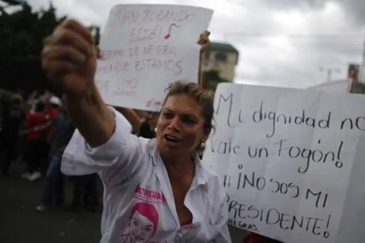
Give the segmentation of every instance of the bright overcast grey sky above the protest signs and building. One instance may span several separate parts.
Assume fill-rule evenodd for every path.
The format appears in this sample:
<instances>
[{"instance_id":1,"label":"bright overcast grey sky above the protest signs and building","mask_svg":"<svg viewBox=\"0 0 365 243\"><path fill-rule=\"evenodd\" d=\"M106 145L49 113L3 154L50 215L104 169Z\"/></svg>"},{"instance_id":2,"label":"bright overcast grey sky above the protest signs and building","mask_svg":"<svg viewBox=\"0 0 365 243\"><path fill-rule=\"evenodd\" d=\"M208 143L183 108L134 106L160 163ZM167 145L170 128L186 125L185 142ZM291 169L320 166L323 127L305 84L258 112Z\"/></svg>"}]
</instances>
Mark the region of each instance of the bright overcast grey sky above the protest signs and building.
<instances>
[{"instance_id":1,"label":"bright overcast grey sky above the protest signs and building","mask_svg":"<svg viewBox=\"0 0 365 243\"><path fill-rule=\"evenodd\" d=\"M35 8L49 0L28 0ZM309 87L347 76L348 63L361 63L365 35L364 0L53 0L59 14L104 25L118 3L170 3L214 10L212 41L240 52L237 83ZM322 69L322 71L321 71Z\"/></svg>"}]
</instances>

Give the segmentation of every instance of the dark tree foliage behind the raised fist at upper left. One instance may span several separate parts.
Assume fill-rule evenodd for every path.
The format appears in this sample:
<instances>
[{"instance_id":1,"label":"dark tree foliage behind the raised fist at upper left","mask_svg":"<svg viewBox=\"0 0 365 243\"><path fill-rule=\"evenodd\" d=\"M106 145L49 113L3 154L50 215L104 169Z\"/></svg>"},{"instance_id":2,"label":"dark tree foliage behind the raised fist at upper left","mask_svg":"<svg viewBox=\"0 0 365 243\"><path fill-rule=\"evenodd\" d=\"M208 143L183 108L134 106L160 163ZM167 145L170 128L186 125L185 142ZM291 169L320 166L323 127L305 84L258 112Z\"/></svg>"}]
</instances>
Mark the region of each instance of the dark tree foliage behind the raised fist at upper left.
<instances>
[{"instance_id":1,"label":"dark tree foliage behind the raised fist at upper left","mask_svg":"<svg viewBox=\"0 0 365 243\"><path fill-rule=\"evenodd\" d=\"M21 10L0 15L0 88L52 89L40 67L40 52L44 38L65 18L57 17L52 3L39 11L24 3ZM100 38L99 28L92 27Z\"/></svg>"}]
</instances>

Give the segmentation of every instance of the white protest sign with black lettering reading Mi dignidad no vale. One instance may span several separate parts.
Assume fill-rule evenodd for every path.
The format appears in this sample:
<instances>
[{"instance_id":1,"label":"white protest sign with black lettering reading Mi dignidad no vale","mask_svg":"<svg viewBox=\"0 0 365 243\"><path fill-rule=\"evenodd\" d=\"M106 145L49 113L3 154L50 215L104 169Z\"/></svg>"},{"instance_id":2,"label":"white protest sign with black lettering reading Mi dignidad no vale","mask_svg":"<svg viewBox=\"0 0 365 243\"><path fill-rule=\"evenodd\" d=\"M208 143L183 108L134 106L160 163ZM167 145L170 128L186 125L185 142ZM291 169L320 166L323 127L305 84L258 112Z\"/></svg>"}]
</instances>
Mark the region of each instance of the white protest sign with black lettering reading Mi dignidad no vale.
<instances>
[{"instance_id":1,"label":"white protest sign with black lettering reading Mi dignidad no vale","mask_svg":"<svg viewBox=\"0 0 365 243\"><path fill-rule=\"evenodd\" d=\"M229 225L284 243L362 243L365 96L220 84L203 164Z\"/></svg>"}]
</instances>

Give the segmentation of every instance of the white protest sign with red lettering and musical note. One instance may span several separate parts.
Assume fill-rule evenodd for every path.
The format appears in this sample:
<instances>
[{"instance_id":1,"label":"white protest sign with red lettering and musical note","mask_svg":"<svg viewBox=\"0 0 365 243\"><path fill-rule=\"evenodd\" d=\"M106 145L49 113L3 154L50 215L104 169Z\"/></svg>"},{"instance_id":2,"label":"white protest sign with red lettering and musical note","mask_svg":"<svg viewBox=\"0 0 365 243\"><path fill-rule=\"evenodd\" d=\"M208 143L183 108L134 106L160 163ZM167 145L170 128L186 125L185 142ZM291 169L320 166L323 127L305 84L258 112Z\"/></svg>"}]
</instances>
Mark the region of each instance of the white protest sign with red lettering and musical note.
<instances>
[{"instance_id":1,"label":"white protest sign with red lettering and musical note","mask_svg":"<svg viewBox=\"0 0 365 243\"><path fill-rule=\"evenodd\" d=\"M197 41L212 14L182 5L114 6L100 40L95 77L105 102L157 111L169 83L198 82Z\"/></svg>"}]
</instances>

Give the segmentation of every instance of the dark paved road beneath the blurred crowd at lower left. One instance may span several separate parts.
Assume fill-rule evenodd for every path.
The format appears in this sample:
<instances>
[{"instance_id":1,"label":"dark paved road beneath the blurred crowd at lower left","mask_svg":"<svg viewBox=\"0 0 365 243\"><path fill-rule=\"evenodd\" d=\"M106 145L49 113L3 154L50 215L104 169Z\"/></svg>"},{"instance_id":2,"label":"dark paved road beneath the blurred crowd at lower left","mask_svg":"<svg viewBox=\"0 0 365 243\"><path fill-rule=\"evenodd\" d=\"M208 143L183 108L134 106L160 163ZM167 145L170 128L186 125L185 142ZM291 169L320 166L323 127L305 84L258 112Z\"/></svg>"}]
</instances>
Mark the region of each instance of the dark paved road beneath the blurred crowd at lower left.
<instances>
[{"instance_id":1,"label":"dark paved road beneath the blurred crowd at lower left","mask_svg":"<svg viewBox=\"0 0 365 243\"><path fill-rule=\"evenodd\" d=\"M37 212L43 182L21 179L24 168L14 164L8 178L0 175L0 243L98 243L100 213ZM71 192L67 182L67 201Z\"/></svg>"}]
</instances>

